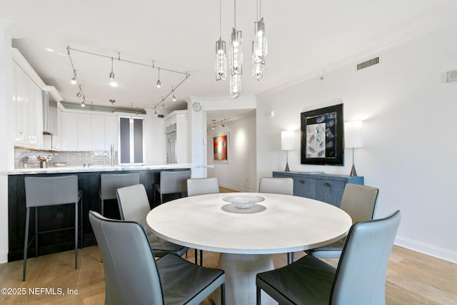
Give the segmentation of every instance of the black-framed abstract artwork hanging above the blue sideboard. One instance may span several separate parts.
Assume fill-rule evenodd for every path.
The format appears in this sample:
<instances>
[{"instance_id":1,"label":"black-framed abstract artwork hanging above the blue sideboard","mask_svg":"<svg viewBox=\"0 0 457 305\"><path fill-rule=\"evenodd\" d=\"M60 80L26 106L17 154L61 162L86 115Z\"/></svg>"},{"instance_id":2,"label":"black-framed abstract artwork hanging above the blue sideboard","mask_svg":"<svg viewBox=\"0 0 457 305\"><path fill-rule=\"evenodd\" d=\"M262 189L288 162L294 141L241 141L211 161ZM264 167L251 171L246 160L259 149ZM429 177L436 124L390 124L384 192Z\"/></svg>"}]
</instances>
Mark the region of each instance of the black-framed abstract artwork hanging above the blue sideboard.
<instances>
[{"instance_id":1,"label":"black-framed abstract artwork hanging above the blue sideboard","mask_svg":"<svg viewBox=\"0 0 457 305\"><path fill-rule=\"evenodd\" d=\"M344 165L343 104L301 113L301 164Z\"/></svg>"}]
</instances>

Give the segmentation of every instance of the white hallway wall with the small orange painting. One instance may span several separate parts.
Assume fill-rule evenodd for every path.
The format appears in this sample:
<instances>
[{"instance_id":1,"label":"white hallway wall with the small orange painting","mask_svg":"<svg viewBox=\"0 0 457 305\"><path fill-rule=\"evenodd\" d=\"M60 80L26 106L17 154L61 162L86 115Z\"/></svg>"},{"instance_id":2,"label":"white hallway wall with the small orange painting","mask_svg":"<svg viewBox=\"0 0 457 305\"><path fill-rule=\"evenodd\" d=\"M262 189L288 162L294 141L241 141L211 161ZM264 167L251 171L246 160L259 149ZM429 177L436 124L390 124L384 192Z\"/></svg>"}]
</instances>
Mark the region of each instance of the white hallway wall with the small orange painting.
<instances>
[{"instance_id":1,"label":"white hallway wall with the small orange painting","mask_svg":"<svg viewBox=\"0 0 457 305\"><path fill-rule=\"evenodd\" d=\"M256 117L250 116L238 121L220 124L213 130L207 129L208 134L208 164L214 168L208 169L208 176L215 176L221 186L238 191L257 191L256 180ZM219 134L229 134L229 163L214 161L213 137Z\"/></svg>"}]
</instances>

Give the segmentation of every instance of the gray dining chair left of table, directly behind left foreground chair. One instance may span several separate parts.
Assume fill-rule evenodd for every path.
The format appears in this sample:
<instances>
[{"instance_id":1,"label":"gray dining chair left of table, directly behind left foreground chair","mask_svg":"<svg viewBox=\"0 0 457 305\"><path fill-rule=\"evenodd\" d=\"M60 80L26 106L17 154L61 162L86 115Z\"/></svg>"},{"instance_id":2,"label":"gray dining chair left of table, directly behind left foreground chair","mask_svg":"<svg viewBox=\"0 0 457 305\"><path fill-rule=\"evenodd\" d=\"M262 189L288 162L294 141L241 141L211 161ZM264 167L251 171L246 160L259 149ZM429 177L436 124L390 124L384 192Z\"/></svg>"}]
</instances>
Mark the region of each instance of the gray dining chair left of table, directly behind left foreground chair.
<instances>
[{"instance_id":1,"label":"gray dining chair left of table, directly behind left foreground chair","mask_svg":"<svg viewBox=\"0 0 457 305\"><path fill-rule=\"evenodd\" d=\"M187 252L187 250L189 250L189 248L185 246L161 239L151 231L146 223L146 215L149 211L151 211L151 208L149 206L148 195L146 194L146 189L143 184L122 187L116 190L116 194L121 220L136 221L144 226L149 242L151 243L151 247L154 249L154 254L157 257L161 257L169 253L182 256Z\"/></svg>"}]
</instances>

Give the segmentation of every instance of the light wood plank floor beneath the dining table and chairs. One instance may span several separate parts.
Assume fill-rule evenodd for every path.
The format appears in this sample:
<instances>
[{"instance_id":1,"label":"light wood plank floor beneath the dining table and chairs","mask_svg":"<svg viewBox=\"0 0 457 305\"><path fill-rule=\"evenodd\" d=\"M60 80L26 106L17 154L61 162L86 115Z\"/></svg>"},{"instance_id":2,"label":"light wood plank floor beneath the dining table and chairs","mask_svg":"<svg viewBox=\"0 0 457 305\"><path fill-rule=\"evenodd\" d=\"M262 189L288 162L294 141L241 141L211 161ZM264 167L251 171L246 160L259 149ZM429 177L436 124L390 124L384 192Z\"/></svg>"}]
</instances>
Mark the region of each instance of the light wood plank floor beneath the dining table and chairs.
<instances>
[{"instance_id":1,"label":"light wood plank floor beneath the dining table and chairs","mask_svg":"<svg viewBox=\"0 0 457 305\"><path fill-rule=\"evenodd\" d=\"M296 253L297 259L301 256L303 252ZM4 294L2 290L0 304L104 304L104 271L98 247L79 249L78 257L76 270L74 251L29 259L25 282L22 261L0 264L0 288L16 293ZM218 257L204 251L204 266L216 267ZM194 261L193 250L188 259ZM273 255L273 261L276 268L284 266L286 254ZM336 259L326 261L338 264ZM21 289L25 294L18 295ZM48 289L47 293L43 289ZM203 304L212 302L206 299ZM457 304L457 264L394 246L387 271L386 304Z\"/></svg>"}]
</instances>

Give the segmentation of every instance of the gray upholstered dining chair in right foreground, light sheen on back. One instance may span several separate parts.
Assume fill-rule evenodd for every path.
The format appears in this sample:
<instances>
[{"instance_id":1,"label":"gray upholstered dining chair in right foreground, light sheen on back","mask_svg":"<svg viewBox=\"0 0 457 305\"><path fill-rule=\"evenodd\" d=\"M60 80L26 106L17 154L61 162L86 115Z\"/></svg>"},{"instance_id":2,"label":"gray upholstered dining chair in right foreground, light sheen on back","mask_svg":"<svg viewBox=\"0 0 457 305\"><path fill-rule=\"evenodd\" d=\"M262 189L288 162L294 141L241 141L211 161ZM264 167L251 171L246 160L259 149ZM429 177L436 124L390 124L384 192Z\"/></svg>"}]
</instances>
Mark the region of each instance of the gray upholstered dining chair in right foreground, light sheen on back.
<instances>
[{"instance_id":1,"label":"gray upholstered dining chair in right foreground, light sheen on back","mask_svg":"<svg viewBox=\"0 0 457 305\"><path fill-rule=\"evenodd\" d=\"M384 219L353 224L334 269L311 255L256 276L261 290L280 304L384 305L386 272L400 211Z\"/></svg>"}]
</instances>

